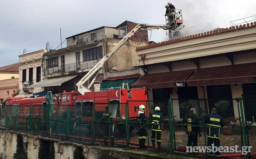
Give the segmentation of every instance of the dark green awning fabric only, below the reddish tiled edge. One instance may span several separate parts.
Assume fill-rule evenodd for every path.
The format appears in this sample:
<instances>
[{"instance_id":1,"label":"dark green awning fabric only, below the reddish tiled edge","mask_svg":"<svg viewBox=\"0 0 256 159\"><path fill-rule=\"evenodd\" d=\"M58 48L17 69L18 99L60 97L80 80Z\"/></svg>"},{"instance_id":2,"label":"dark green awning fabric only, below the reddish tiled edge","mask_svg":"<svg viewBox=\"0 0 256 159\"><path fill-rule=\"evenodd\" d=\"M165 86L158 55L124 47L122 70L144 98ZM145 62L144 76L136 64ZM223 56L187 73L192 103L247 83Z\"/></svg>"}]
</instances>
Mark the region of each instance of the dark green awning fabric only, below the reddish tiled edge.
<instances>
[{"instance_id":1,"label":"dark green awning fabric only, below the reddish tiled edge","mask_svg":"<svg viewBox=\"0 0 256 159\"><path fill-rule=\"evenodd\" d=\"M110 87L121 87L122 88L122 83L128 83L128 86L131 88L132 84L136 82L139 78L128 78L128 79L120 79L120 80L104 80L100 84L100 89L106 89ZM126 85L124 86L126 88Z\"/></svg>"}]
</instances>

